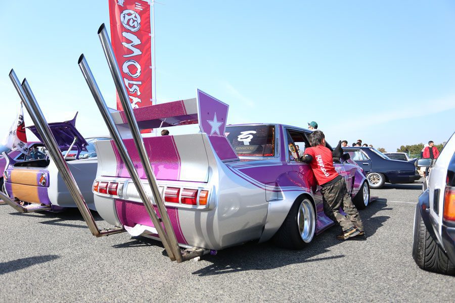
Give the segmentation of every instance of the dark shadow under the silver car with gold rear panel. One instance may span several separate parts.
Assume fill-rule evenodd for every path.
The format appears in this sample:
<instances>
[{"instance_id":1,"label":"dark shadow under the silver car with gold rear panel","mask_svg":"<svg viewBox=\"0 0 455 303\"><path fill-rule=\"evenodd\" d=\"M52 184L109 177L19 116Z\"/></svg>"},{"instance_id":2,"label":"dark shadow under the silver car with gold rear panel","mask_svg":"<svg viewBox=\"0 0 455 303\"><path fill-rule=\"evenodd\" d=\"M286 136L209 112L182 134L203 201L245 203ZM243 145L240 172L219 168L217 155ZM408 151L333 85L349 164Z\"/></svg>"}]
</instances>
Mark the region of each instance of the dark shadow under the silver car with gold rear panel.
<instances>
[{"instance_id":1,"label":"dark shadow under the silver car with gold rear panel","mask_svg":"<svg viewBox=\"0 0 455 303\"><path fill-rule=\"evenodd\" d=\"M97 212L90 211L92 213L93 218L95 221L104 221L103 218L98 215ZM85 224L82 215L80 214L77 208L67 209L60 213L53 213L53 212L36 212L36 213L10 213L13 216L30 216L35 217L38 219L51 219L48 221L39 222L41 224L46 225L57 225L57 226L66 226L66 227L76 227L76 228L88 228ZM71 224L72 222L83 222L83 225L80 224Z\"/></svg>"}]
</instances>

